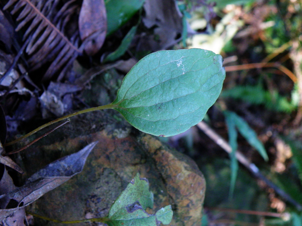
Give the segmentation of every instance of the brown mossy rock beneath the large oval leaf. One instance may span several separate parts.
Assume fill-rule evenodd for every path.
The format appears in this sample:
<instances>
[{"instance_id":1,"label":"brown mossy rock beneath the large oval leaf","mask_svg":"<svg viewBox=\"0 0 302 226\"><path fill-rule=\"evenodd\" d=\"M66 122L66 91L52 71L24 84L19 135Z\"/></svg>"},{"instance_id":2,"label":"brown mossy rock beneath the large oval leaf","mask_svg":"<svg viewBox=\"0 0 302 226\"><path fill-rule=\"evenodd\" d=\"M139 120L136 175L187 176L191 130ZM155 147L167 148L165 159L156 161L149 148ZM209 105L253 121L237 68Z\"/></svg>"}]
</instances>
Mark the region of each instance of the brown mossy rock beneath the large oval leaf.
<instances>
[{"instance_id":1,"label":"brown mossy rock beneath the large oval leaf","mask_svg":"<svg viewBox=\"0 0 302 226\"><path fill-rule=\"evenodd\" d=\"M118 84L115 77L108 80ZM113 97L105 97L95 96L105 102L92 101L92 104L112 101ZM27 210L59 220L104 217L113 201L139 172L141 177L148 179L154 193L155 206L148 211L155 212L171 204L174 214L170 225L201 225L205 180L196 163L156 137L132 128L117 111L110 109L74 117L70 123L24 151L17 159L25 170L23 181L52 161L75 153L94 141L98 144L83 171L43 195ZM36 217L34 220L35 225L60 225Z\"/></svg>"}]
</instances>

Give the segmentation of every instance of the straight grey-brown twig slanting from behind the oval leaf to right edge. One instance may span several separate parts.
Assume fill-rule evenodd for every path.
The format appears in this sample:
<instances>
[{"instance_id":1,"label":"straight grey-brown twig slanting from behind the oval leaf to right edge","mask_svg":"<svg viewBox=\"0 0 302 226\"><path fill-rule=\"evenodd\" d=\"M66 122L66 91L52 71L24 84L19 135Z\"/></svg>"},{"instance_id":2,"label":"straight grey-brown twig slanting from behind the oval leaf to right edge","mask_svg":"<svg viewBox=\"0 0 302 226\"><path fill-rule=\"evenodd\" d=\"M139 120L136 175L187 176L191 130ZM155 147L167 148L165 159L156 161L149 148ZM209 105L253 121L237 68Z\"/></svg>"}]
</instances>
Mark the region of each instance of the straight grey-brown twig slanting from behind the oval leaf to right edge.
<instances>
[{"instance_id":1,"label":"straight grey-brown twig slanting from behind the oval leaf to right edge","mask_svg":"<svg viewBox=\"0 0 302 226\"><path fill-rule=\"evenodd\" d=\"M210 139L212 139L217 145L219 145L224 151L231 153L232 148L229 145L228 142L226 142L222 137L220 137L215 131L213 131L208 125L206 125L204 122L200 122L197 124L197 127L203 131ZM267 179L262 173L260 172L259 168L254 164L251 163L240 151L236 150L236 158L237 160L243 164L251 173L263 180L267 186L274 189L276 193L278 193L281 197L283 197L285 200L290 202L292 205L294 205L298 210L302 210L302 206L296 202L293 198L291 198L285 191L280 189L277 185L275 185L273 182L271 182L269 179Z\"/></svg>"}]
</instances>

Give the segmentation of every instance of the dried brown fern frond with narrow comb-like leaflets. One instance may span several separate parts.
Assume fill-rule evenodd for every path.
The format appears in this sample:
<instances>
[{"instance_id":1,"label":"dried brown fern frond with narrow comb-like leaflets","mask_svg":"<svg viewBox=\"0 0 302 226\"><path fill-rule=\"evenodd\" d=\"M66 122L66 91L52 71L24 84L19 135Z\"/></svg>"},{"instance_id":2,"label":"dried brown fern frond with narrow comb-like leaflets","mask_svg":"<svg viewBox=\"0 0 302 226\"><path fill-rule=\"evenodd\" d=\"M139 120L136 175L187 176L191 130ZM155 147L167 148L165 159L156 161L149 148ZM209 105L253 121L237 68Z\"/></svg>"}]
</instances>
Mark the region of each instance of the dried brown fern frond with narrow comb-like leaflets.
<instances>
[{"instance_id":1,"label":"dried brown fern frond with narrow comb-like leaflets","mask_svg":"<svg viewBox=\"0 0 302 226\"><path fill-rule=\"evenodd\" d=\"M58 2L10 0L4 7L4 10L12 8L13 15L19 13L17 21L20 23L16 30L26 29L23 39L30 39L25 50L29 55L30 71L52 62L42 80L49 80L55 73L64 70L83 52L77 46L77 39L71 42L63 32L78 6L74 5L75 0L69 0L53 15Z\"/></svg>"}]
</instances>

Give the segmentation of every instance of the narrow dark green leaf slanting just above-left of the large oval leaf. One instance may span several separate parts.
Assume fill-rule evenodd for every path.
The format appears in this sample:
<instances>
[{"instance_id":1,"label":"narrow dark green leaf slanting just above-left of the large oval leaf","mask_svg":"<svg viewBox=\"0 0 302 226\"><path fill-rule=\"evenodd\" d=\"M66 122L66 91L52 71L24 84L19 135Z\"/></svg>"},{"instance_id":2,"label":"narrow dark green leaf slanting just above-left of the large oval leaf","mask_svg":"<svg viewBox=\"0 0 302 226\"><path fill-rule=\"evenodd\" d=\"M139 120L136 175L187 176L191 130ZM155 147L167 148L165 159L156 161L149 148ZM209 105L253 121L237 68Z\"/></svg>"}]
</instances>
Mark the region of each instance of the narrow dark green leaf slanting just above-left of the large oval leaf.
<instances>
[{"instance_id":1,"label":"narrow dark green leaf slanting just above-left of the large oval leaf","mask_svg":"<svg viewBox=\"0 0 302 226\"><path fill-rule=\"evenodd\" d=\"M132 27L130 31L127 33L127 35L123 38L123 41L121 45L115 50L114 52L110 53L105 59L104 62L108 61L114 61L124 55L124 53L127 51L129 45L131 44L131 41L136 33L136 26Z\"/></svg>"}]
</instances>

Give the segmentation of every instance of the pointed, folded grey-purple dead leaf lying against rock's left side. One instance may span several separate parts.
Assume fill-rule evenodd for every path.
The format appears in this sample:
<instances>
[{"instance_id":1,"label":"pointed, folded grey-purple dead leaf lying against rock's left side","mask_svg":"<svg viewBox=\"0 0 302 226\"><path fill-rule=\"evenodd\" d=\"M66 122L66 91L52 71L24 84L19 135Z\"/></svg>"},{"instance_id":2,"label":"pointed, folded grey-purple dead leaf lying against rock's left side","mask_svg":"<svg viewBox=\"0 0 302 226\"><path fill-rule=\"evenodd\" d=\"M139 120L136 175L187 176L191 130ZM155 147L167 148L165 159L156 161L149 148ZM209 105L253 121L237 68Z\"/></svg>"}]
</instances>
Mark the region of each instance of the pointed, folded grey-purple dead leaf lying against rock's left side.
<instances>
[{"instance_id":1,"label":"pointed, folded grey-purple dead leaf lying against rock's left side","mask_svg":"<svg viewBox=\"0 0 302 226\"><path fill-rule=\"evenodd\" d=\"M13 190L11 191L8 191L10 189L3 189L7 193L0 195L0 203L5 203L2 206L2 209L0 209L0 222L5 222L6 224L3 223L4 225L15 225L9 223L11 222L9 221L11 220L11 217L14 216L20 219L25 206L34 202L46 192L53 190L66 182L72 176L80 173L83 170L89 153L96 144L97 142L91 143L77 153L65 156L50 163L28 178L25 185L22 187L16 189L12 187ZM4 185L10 183L7 176L4 180L6 181L3 182Z\"/></svg>"}]
</instances>

